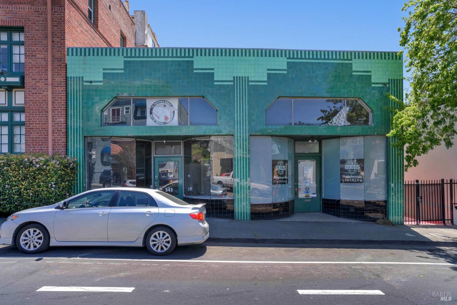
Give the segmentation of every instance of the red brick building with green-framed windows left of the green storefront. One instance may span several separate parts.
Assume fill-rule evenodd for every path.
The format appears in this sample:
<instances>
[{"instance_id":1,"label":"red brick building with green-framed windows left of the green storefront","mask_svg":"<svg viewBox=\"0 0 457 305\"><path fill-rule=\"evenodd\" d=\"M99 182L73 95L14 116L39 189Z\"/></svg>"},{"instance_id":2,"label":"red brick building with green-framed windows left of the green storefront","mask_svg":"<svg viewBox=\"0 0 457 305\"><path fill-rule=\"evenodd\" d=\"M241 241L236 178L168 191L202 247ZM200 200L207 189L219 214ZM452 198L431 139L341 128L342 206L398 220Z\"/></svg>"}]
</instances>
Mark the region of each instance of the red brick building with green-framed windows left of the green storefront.
<instances>
[{"instance_id":1,"label":"red brick building with green-framed windows left of the green storefront","mask_svg":"<svg viewBox=\"0 0 457 305\"><path fill-rule=\"evenodd\" d=\"M1 1L0 153L67 153L66 48L152 46L135 42L128 10L120 0Z\"/></svg>"}]
</instances>

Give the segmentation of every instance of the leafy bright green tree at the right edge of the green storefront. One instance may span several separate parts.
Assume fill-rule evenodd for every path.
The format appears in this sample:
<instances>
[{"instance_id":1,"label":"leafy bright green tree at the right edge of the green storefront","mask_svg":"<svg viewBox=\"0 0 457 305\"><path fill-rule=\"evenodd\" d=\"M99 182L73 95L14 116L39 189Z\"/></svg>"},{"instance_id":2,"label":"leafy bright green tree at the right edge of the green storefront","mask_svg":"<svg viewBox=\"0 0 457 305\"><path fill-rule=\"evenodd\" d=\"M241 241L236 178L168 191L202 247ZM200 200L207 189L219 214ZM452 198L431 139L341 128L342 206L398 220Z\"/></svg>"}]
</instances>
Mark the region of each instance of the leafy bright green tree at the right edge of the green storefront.
<instances>
[{"instance_id":1,"label":"leafy bright green tree at the right edge of the green storefront","mask_svg":"<svg viewBox=\"0 0 457 305\"><path fill-rule=\"evenodd\" d=\"M457 134L457 0L410 0L402 11L408 12L399 32L411 91L404 102L388 95L398 106L388 136L405 148L408 169L441 143L451 147Z\"/></svg>"}]
</instances>

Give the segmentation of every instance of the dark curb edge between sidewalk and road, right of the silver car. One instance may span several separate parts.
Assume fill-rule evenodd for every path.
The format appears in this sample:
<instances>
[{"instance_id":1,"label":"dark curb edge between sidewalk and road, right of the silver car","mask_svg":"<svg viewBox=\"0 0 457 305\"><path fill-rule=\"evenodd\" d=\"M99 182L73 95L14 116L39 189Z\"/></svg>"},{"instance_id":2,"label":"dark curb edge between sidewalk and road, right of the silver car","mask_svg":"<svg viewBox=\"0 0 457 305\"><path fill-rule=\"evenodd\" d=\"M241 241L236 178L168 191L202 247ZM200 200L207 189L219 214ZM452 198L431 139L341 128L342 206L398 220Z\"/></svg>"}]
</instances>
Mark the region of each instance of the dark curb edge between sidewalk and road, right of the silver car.
<instances>
[{"instance_id":1,"label":"dark curb edge between sidewalk and road, right of the silver car","mask_svg":"<svg viewBox=\"0 0 457 305\"><path fill-rule=\"evenodd\" d=\"M291 238L229 238L209 237L205 243L279 244L279 245L412 245L457 247L457 241L400 241L355 239L291 239Z\"/></svg>"}]
</instances>

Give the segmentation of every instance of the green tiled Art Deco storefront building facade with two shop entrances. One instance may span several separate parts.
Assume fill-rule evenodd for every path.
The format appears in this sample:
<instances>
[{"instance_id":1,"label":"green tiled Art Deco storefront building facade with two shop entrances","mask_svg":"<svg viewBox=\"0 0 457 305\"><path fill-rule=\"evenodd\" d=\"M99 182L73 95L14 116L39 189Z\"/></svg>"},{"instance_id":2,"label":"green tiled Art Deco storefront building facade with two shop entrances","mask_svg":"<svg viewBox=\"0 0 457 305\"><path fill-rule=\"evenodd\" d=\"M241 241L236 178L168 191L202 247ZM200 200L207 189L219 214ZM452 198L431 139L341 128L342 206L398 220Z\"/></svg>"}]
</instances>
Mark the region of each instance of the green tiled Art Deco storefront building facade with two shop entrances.
<instances>
[{"instance_id":1,"label":"green tiled Art Deco storefront building facade with two shop entrances","mask_svg":"<svg viewBox=\"0 0 457 305\"><path fill-rule=\"evenodd\" d=\"M403 223L403 156L385 137L393 106L386 93L403 96L396 53L67 52L75 192L130 183L205 202L210 217L322 211ZM171 110L158 114L158 105Z\"/></svg>"}]
</instances>

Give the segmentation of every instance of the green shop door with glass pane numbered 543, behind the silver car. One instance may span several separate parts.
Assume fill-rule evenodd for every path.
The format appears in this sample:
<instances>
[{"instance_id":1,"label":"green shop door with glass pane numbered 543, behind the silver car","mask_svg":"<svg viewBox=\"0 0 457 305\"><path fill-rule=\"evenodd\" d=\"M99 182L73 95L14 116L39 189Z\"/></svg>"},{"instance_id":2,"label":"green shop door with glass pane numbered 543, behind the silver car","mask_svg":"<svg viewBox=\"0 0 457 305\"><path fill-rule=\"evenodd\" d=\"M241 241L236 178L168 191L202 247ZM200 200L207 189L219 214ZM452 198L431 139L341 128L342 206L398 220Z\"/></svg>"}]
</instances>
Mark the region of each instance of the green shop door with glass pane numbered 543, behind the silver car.
<instances>
[{"instance_id":1,"label":"green shop door with glass pane numbered 543, behind the silver car","mask_svg":"<svg viewBox=\"0 0 457 305\"><path fill-rule=\"evenodd\" d=\"M155 188L182 199L182 158L154 157Z\"/></svg>"}]
</instances>

